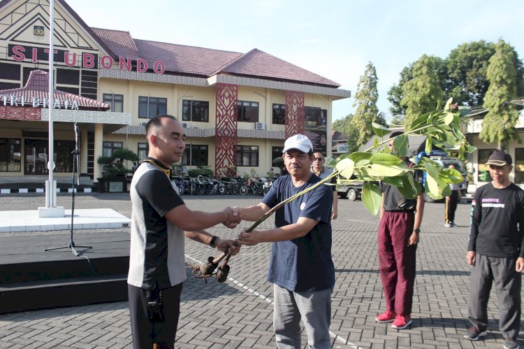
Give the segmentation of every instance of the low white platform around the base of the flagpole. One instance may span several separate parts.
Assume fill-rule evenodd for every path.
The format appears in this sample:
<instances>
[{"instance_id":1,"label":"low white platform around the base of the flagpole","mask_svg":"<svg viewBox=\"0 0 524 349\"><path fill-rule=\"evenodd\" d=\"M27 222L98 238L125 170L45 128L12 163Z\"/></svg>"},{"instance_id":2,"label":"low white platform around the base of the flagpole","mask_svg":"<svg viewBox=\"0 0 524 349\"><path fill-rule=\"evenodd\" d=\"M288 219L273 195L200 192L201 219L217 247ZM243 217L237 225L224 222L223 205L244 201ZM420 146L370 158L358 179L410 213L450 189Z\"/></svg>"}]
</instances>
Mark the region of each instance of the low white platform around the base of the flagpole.
<instances>
[{"instance_id":1,"label":"low white platform around the base of the flagpole","mask_svg":"<svg viewBox=\"0 0 524 349\"><path fill-rule=\"evenodd\" d=\"M73 229L117 229L131 227L131 220L112 208L75 209ZM71 210L60 218L40 218L38 211L0 211L0 232L71 230Z\"/></svg>"}]
</instances>

